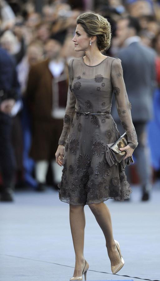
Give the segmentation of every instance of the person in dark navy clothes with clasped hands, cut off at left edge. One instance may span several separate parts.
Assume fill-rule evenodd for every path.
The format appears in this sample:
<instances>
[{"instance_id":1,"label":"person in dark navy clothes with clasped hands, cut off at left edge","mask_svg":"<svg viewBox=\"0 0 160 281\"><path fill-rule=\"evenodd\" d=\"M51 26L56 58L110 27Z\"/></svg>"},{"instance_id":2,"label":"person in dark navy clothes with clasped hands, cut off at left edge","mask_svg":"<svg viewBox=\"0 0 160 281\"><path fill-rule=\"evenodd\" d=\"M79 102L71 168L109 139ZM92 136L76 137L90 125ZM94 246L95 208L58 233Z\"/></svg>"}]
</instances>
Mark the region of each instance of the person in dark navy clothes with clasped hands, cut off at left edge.
<instances>
[{"instance_id":1,"label":"person in dark navy clothes with clasped hands, cut off at left edge","mask_svg":"<svg viewBox=\"0 0 160 281\"><path fill-rule=\"evenodd\" d=\"M0 47L0 170L1 201L13 201L15 162L11 145L11 111L20 96L16 65Z\"/></svg>"}]
</instances>

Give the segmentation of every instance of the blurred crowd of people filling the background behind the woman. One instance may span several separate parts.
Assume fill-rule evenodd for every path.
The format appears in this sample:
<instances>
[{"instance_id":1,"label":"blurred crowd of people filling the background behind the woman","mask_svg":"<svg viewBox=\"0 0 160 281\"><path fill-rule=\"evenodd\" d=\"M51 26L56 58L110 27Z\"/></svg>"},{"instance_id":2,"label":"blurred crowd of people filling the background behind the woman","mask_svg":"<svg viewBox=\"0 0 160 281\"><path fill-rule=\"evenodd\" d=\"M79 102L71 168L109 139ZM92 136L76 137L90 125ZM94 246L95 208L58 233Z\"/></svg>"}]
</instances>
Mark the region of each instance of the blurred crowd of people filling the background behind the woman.
<instances>
[{"instance_id":1,"label":"blurred crowd of people filling the background behind the woman","mask_svg":"<svg viewBox=\"0 0 160 281\"><path fill-rule=\"evenodd\" d=\"M1 201L12 201L18 184L44 191L46 184L57 188L61 180L63 166L56 164L55 152L64 122L68 63L84 56L72 42L76 18L84 11L98 12L111 23L111 47L104 55L122 61L138 136L133 154L137 178L142 200L150 198L160 170L160 2L45 0L37 7L34 1L0 0ZM111 114L123 133L114 98Z\"/></svg>"}]
</instances>

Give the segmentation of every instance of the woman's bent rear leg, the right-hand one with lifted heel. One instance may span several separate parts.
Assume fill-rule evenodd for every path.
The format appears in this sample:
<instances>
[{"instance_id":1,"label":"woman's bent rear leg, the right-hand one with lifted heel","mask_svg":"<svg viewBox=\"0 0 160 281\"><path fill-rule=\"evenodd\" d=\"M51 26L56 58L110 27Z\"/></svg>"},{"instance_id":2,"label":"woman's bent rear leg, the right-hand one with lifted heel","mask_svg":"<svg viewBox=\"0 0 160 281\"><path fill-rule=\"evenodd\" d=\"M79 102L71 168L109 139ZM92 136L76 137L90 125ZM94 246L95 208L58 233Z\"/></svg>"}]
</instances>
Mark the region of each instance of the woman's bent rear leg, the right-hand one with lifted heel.
<instances>
[{"instance_id":1,"label":"woman's bent rear leg, the right-hand one with lifted heel","mask_svg":"<svg viewBox=\"0 0 160 281\"><path fill-rule=\"evenodd\" d=\"M100 228L104 233L106 247L111 261L111 265L117 265L121 261L119 252L113 238L112 222L108 207L104 202L89 204Z\"/></svg>"}]
</instances>

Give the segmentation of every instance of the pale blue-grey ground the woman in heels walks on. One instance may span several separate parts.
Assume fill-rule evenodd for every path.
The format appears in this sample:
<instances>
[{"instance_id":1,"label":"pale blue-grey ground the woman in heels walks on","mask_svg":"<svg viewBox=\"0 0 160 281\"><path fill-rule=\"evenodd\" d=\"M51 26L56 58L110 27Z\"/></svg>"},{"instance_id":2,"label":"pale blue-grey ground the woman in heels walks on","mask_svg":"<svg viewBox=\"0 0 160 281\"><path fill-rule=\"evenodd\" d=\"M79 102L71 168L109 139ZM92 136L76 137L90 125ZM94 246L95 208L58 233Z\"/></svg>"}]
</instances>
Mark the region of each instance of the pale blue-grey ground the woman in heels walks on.
<instances>
[{"instance_id":1,"label":"pale blue-grey ground the woman in heels walks on","mask_svg":"<svg viewBox=\"0 0 160 281\"><path fill-rule=\"evenodd\" d=\"M150 201L141 202L140 196L134 186L131 201L105 201L125 261L117 275L111 274L102 230L85 206L87 281L160 280L160 182ZM13 202L0 202L0 225L0 281L69 281L73 276L69 204L59 200L58 191L16 190Z\"/></svg>"}]
</instances>

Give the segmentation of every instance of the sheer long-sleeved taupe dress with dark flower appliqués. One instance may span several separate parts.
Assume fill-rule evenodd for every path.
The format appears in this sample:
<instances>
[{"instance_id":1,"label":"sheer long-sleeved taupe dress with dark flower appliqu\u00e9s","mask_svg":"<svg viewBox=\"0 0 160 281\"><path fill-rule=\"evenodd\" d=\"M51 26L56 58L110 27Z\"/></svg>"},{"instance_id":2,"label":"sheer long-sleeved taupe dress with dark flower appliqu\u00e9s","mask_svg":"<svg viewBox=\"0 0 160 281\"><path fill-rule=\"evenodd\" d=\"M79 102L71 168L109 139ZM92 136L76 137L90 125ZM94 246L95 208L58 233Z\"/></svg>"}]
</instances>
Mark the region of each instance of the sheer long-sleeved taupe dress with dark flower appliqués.
<instances>
[{"instance_id":1,"label":"sheer long-sleeved taupe dress with dark flower appliqu\u00e9s","mask_svg":"<svg viewBox=\"0 0 160 281\"><path fill-rule=\"evenodd\" d=\"M121 164L109 167L105 145L119 138L110 115L112 96L128 145L135 149L137 134L131 117L119 58L106 57L96 66L83 57L69 62L69 87L64 126L58 144L65 146L59 199L72 205L100 203L108 199L123 201L132 192ZM106 113L84 115L79 112Z\"/></svg>"}]
</instances>

